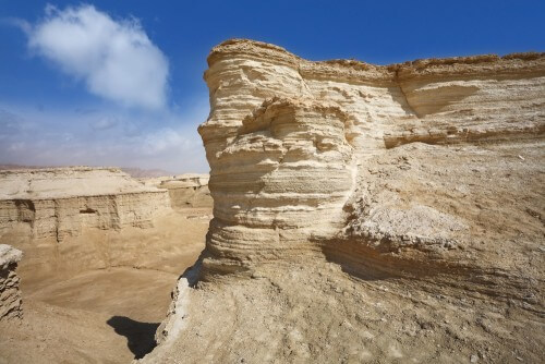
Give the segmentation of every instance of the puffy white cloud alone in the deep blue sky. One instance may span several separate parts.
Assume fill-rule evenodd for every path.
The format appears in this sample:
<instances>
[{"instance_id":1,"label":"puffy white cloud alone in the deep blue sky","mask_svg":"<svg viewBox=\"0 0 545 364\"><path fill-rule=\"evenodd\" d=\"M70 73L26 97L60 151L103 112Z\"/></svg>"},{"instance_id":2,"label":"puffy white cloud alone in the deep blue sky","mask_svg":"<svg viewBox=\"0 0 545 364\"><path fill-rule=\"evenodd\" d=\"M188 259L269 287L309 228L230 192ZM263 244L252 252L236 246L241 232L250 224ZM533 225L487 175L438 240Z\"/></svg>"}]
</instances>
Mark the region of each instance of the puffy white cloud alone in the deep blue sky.
<instances>
[{"instance_id":1,"label":"puffy white cloud alone in the deep blue sky","mask_svg":"<svg viewBox=\"0 0 545 364\"><path fill-rule=\"evenodd\" d=\"M33 51L82 78L87 89L126 106L166 105L169 64L136 20L114 21L93 5L58 10L22 27Z\"/></svg>"}]
</instances>

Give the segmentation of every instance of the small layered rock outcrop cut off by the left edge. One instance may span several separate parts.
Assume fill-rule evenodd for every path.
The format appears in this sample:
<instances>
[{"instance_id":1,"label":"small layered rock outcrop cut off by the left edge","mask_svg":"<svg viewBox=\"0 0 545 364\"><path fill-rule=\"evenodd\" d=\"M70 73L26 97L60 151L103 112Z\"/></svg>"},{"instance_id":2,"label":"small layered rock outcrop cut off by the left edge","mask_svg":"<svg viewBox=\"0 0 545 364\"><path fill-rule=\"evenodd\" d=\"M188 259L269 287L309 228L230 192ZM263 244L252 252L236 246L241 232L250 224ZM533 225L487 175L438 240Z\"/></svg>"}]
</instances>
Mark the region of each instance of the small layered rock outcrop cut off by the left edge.
<instances>
[{"instance_id":1,"label":"small layered rock outcrop cut off by the left edge","mask_svg":"<svg viewBox=\"0 0 545 364\"><path fill-rule=\"evenodd\" d=\"M15 272L22 258L21 251L0 244L0 321L23 317L20 279Z\"/></svg>"}]
</instances>

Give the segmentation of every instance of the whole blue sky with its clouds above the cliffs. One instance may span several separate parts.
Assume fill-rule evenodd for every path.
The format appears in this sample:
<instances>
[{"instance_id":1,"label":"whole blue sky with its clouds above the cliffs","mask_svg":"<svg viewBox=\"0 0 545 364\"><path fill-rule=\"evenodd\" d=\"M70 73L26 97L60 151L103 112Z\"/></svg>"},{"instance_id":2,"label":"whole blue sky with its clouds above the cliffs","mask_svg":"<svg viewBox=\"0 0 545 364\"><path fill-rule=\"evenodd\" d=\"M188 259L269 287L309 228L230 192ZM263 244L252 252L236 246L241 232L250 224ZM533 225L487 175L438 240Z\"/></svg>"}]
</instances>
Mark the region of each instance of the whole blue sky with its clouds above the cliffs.
<instances>
[{"instance_id":1,"label":"whole blue sky with its clouds above the cliffs","mask_svg":"<svg viewBox=\"0 0 545 364\"><path fill-rule=\"evenodd\" d=\"M387 64L545 51L544 17L524 0L0 0L0 163L206 172L203 72L228 38Z\"/></svg>"}]
</instances>

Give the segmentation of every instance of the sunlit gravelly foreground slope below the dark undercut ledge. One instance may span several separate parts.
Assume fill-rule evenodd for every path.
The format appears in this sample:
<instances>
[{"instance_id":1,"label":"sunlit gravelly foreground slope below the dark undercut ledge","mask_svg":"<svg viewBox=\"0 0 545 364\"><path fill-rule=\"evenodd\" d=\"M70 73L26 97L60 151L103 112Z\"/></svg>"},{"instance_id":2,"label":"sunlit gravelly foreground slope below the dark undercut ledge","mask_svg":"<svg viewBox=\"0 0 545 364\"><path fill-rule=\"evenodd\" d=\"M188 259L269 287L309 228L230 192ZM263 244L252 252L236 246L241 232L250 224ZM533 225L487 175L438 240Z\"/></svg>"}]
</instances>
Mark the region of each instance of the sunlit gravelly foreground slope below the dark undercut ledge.
<instances>
[{"instance_id":1,"label":"sunlit gravelly foreground slope below the dark undercut ledge","mask_svg":"<svg viewBox=\"0 0 545 364\"><path fill-rule=\"evenodd\" d=\"M185 293L183 335L145 363L541 363L545 354L538 315L472 292L358 279L319 256Z\"/></svg>"}]
</instances>

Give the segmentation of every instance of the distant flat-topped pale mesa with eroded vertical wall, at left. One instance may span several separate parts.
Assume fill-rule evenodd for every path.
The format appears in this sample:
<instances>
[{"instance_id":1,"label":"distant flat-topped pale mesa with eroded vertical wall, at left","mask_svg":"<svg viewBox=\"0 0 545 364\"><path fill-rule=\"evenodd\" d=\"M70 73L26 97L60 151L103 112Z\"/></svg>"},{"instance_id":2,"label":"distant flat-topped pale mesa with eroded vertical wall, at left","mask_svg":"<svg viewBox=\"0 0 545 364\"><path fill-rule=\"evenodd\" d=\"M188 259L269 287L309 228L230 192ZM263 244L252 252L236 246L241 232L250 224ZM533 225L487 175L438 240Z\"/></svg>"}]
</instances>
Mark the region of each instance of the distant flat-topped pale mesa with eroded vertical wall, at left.
<instances>
[{"instance_id":1,"label":"distant flat-topped pale mesa with eroded vertical wall, at left","mask_svg":"<svg viewBox=\"0 0 545 364\"><path fill-rule=\"evenodd\" d=\"M62 241L83 228L150 227L170 206L168 192L145 186L114 168L0 172L0 233L28 223L33 238Z\"/></svg>"}]
</instances>

